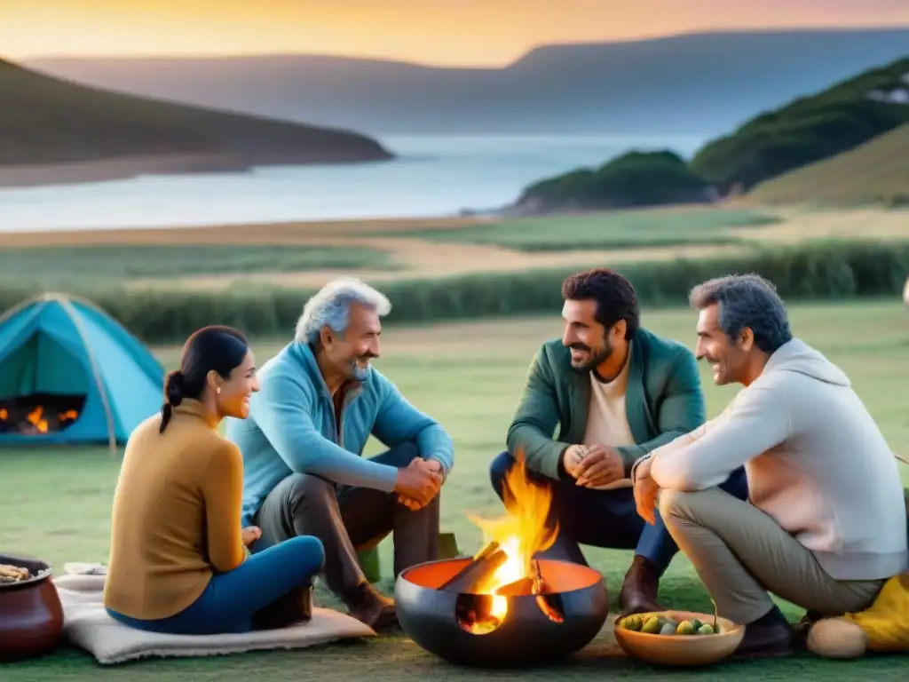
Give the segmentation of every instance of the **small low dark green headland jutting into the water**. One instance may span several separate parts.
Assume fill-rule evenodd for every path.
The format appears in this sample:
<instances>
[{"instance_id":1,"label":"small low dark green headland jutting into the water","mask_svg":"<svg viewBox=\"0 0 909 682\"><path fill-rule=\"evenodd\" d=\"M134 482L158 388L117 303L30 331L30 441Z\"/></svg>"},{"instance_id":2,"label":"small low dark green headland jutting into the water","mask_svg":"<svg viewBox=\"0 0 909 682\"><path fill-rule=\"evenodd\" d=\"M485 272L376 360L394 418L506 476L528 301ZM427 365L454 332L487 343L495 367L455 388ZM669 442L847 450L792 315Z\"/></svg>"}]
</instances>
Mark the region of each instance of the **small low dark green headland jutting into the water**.
<instances>
[{"instance_id":1,"label":"small low dark green headland jutting into the water","mask_svg":"<svg viewBox=\"0 0 909 682\"><path fill-rule=\"evenodd\" d=\"M600 168L580 168L524 190L517 212L602 210L706 202L713 188L670 151L629 152Z\"/></svg>"}]
</instances>

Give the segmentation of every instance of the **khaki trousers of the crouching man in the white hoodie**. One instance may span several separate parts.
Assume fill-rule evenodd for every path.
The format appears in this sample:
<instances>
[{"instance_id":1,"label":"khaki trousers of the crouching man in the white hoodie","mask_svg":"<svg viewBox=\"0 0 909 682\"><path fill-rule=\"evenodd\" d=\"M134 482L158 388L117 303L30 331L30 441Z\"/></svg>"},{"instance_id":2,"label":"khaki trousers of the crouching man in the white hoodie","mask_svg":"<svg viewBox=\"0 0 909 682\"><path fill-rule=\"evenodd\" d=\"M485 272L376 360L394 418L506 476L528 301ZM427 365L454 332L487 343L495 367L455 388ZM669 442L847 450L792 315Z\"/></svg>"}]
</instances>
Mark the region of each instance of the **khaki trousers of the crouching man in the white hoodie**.
<instances>
[{"instance_id":1,"label":"khaki trousers of the crouching man in the white hoodie","mask_svg":"<svg viewBox=\"0 0 909 682\"><path fill-rule=\"evenodd\" d=\"M774 606L768 592L818 616L842 616L871 606L884 586L834 580L772 517L719 488L662 490L659 507L717 613L735 623L764 616Z\"/></svg>"}]
</instances>

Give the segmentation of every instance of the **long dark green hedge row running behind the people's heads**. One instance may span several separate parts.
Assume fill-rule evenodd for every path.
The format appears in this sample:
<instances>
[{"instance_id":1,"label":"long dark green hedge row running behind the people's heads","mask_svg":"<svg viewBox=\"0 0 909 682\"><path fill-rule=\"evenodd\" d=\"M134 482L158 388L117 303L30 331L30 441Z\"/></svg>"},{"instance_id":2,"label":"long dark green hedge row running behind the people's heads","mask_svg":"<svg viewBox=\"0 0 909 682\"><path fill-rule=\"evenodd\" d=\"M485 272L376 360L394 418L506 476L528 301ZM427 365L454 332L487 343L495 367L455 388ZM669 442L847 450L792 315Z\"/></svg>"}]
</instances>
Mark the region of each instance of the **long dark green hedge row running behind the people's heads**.
<instances>
[{"instance_id":1,"label":"long dark green hedge row running behind the people's heads","mask_svg":"<svg viewBox=\"0 0 909 682\"><path fill-rule=\"evenodd\" d=\"M379 283L392 300L391 325L493 316L555 314L565 276L578 268L489 273ZM634 284L643 306L684 305L692 286L714 276L754 272L787 299L899 295L909 276L909 242L824 242L788 249L759 248L738 257L627 264L616 269ZM6 288L0 304L34 294ZM74 292L77 293L77 292ZM251 336L293 333L312 291L251 289L245 293L187 291L166 295L111 289L83 295L148 342L182 343L200 326L234 325Z\"/></svg>"}]
</instances>

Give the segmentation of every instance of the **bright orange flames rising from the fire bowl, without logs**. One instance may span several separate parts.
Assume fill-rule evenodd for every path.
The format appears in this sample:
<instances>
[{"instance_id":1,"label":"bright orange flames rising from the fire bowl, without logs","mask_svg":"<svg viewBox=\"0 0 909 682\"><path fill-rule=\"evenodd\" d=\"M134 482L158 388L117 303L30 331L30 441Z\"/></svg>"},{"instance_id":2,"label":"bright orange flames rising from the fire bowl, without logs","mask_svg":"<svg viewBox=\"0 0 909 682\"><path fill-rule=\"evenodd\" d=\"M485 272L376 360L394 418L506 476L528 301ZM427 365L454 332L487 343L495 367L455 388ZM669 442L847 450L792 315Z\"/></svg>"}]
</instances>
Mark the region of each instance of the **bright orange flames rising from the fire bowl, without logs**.
<instances>
[{"instance_id":1,"label":"bright orange flames rising from the fire bowl, without logs","mask_svg":"<svg viewBox=\"0 0 909 682\"><path fill-rule=\"evenodd\" d=\"M553 546L558 525L546 527L553 502L550 486L534 483L527 476L524 454L518 453L514 466L504 477L504 517L484 519L468 515L483 530L485 541L498 543L508 557L501 567L477 587L480 594L494 595L488 616L499 622L508 613L508 598L495 596L496 590L533 576L534 554Z\"/></svg>"}]
</instances>

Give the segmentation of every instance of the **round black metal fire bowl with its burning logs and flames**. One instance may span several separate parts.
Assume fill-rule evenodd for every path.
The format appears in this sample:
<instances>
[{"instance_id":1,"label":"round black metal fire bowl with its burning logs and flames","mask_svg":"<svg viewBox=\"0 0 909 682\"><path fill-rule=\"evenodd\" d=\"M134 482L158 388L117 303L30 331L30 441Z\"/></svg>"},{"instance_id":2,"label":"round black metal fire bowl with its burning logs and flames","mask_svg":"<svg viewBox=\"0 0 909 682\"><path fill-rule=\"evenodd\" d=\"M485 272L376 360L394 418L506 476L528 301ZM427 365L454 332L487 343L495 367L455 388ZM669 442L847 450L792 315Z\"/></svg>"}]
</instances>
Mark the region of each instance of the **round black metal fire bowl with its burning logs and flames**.
<instances>
[{"instance_id":1,"label":"round black metal fire bowl with its burning logs and flames","mask_svg":"<svg viewBox=\"0 0 909 682\"><path fill-rule=\"evenodd\" d=\"M419 564L395 582L405 633L454 663L526 666L564 657L596 637L609 612L599 572L534 558L559 529L547 526L550 487L528 478L521 456L503 498L503 517L471 517L485 536L474 557Z\"/></svg>"}]
</instances>

